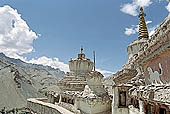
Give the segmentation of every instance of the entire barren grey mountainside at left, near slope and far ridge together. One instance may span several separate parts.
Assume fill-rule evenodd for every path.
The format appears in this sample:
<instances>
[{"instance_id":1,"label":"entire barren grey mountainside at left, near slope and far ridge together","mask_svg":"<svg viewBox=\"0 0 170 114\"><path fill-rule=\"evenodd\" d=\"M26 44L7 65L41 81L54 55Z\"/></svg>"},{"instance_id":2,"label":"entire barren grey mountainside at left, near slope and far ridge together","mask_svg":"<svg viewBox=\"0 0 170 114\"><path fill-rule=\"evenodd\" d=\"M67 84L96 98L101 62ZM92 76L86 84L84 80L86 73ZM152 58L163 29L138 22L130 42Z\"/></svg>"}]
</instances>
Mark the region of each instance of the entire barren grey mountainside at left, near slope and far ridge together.
<instances>
[{"instance_id":1,"label":"entire barren grey mountainside at left, near slope and far ridge together","mask_svg":"<svg viewBox=\"0 0 170 114\"><path fill-rule=\"evenodd\" d=\"M53 86L64 75L59 69L28 64L0 53L0 109L26 105L26 99L43 97L41 89Z\"/></svg>"}]
</instances>

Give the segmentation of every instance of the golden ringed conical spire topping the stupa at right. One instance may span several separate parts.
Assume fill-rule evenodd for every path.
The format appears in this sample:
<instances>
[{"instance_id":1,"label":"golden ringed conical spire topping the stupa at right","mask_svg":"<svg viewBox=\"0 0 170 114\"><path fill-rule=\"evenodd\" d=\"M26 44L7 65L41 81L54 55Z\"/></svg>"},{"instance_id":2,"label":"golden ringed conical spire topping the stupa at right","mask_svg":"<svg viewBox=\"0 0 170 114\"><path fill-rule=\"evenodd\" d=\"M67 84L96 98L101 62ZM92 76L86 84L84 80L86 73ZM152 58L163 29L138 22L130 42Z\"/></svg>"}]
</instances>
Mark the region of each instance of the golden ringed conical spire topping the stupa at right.
<instances>
[{"instance_id":1,"label":"golden ringed conical spire topping the stupa at right","mask_svg":"<svg viewBox=\"0 0 170 114\"><path fill-rule=\"evenodd\" d=\"M148 35L148 29L146 27L146 22L144 18L145 14L143 12L143 8L140 8L140 13L139 13L139 34L138 34L138 39L142 38L149 38Z\"/></svg>"}]
</instances>

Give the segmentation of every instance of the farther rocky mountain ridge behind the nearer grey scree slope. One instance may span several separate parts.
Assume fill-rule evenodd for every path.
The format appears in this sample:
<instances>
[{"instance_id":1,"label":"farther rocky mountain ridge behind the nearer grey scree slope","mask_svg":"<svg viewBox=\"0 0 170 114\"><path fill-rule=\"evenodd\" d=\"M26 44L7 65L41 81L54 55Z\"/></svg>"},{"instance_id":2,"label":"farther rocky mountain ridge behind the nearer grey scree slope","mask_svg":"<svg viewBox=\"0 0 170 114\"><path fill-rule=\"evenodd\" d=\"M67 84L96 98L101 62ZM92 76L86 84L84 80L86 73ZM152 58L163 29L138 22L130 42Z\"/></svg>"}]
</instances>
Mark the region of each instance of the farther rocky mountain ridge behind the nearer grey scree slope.
<instances>
[{"instance_id":1,"label":"farther rocky mountain ridge behind the nearer grey scree slope","mask_svg":"<svg viewBox=\"0 0 170 114\"><path fill-rule=\"evenodd\" d=\"M14 67L17 67L22 75L30 78L37 90L55 85L56 82L64 76L64 72L60 69L25 63L19 59L9 58L3 53L0 53L0 59L11 62Z\"/></svg>"}]
</instances>

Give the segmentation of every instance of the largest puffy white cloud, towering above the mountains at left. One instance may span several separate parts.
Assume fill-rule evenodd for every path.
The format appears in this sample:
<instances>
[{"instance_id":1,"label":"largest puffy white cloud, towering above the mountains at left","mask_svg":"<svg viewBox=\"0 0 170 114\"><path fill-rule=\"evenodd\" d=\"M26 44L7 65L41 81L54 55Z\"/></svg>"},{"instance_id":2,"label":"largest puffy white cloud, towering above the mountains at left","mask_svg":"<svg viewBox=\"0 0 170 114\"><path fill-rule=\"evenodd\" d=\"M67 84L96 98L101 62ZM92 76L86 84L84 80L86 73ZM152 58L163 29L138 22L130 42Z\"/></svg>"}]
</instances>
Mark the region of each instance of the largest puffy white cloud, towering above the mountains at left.
<instances>
[{"instance_id":1,"label":"largest puffy white cloud, towering above the mountains at left","mask_svg":"<svg viewBox=\"0 0 170 114\"><path fill-rule=\"evenodd\" d=\"M17 10L6 5L0 7L0 52L13 58L33 51L32 43L38 36L30 30Z\"/></svg>"}]
</instances>

